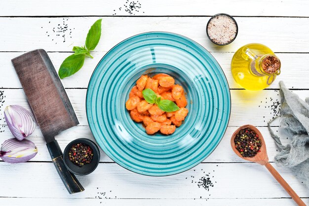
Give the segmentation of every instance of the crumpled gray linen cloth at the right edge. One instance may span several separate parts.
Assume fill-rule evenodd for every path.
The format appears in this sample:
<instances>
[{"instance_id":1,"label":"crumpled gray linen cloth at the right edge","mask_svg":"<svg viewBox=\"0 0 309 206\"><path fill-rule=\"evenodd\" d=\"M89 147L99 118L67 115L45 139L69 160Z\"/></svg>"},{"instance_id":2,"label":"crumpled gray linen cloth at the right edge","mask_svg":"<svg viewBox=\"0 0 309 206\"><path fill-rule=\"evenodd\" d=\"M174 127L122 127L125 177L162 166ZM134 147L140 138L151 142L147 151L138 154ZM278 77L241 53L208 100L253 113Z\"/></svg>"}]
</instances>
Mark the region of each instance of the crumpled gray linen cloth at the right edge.
<instances>
[{"instance_id":1,"label":"crumpled gray linen cloth at the right edge","mask_svg":"<svg viewBox=\"0 0 309 206\"><path fill-rule=\"evenodd\" d=\"M283 145L280 138L268 128L271 137L279 148L274 157L278 166L290 168L297 177L309 188L309 98L301 100L298 95L287 89L282 81L279 82L281 94L280 128L285 129L292 141Z\"/></svg>"}]
</instances>

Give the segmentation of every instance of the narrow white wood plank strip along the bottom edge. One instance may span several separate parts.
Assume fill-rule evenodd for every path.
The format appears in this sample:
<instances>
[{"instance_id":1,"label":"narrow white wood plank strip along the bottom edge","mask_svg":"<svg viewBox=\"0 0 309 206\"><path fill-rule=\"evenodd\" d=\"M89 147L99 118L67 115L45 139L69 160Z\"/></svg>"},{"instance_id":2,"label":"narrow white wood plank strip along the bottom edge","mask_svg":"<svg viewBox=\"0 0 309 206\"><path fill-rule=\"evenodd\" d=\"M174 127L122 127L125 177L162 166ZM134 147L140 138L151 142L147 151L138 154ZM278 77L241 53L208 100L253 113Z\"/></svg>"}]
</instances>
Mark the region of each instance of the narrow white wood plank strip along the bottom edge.
<instances>
[{"instance_id":1,"label":"narrow white wood plank strip along the bottom edge","mask_svg":"<svg viewBox=\"0 0 309 206\"><path fill-rule=\"evenodd\" d=\"M309 203L308 199L304 199L305 203ZM291 199L97 199L97 198L70 198L70 199L56 199L56 198L0 198L3 205L37 205L43 206L297 206Z\"/></svg>"}]
</instances>

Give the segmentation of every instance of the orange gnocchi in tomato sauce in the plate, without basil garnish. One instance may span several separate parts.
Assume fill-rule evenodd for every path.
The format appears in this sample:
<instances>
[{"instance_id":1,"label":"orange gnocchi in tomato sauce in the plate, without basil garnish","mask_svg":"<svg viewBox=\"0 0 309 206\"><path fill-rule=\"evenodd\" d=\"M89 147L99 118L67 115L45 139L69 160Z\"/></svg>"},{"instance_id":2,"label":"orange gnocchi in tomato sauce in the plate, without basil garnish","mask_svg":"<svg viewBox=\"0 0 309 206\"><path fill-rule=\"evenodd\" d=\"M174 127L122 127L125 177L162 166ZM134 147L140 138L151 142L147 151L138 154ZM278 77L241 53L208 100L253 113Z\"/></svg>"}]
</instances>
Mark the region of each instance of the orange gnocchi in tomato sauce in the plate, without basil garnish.
<instances>
[{"instance_id":1,"label":"orange gnocchi in tomato sauce in the plate, without basil garnish","mask_svg":"<svg viewBox=\"0 0 309 206\"><path fill-rule=\"evenodd\" d=\"M148 103L143 97L144 89L152 89L157 97L170 100L177 104L179 110L165 112L156 104ZM164 135L173 134L188 115L187 99L181 85L175 84L175 79L165 73L150 77L142 75L131 89L129 99L125 103L130 117L135 122L143 124L148 135L160 132Z\"/></svg>"}]
</instances>

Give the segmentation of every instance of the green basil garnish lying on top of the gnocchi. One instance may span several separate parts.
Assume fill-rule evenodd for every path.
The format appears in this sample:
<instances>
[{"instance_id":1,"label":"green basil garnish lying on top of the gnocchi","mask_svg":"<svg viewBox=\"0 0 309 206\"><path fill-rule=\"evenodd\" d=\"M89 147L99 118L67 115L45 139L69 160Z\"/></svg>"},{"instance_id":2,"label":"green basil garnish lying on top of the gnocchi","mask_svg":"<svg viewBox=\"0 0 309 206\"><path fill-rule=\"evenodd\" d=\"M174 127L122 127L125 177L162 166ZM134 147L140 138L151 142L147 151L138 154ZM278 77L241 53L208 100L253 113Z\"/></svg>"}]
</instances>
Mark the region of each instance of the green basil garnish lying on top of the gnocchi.
<instances>
[{"instance_id":1,"label":"green basil garnish lying on top of the gnocchi","mask_svg":"<svg viewBox=\"0 0 309 206\"><path fill-rule=\"evenodd\" d=\"M152 89L144 89L142 94L146 102L155 103L162 111L172 112L179 110L179 107L173 101L161 100Z\"/></svg>"}]
</instances>

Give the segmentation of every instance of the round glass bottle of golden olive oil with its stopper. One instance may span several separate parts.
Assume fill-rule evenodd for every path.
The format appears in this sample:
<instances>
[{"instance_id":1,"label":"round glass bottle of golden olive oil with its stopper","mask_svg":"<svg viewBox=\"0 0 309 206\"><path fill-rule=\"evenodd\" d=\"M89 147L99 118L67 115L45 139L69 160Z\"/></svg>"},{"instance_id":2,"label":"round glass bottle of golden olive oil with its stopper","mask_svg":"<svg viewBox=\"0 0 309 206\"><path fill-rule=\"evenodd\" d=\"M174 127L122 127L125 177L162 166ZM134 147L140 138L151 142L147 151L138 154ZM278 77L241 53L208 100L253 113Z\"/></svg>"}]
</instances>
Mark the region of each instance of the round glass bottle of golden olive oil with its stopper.
<instances>
[{"instance_id":1,"label":"round glass bottle of golden olive oil with its stopper","mask_svg":"<svg viewBox=\"0 0 309 206\"><path fill-rule=\"evenodd\" d=\"M234 80L247 90L262 90L280 74L281 63L267 46L246 44L234 54L231 71Z\"/></svg>"}]
</instances>

